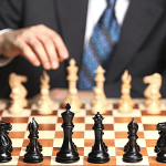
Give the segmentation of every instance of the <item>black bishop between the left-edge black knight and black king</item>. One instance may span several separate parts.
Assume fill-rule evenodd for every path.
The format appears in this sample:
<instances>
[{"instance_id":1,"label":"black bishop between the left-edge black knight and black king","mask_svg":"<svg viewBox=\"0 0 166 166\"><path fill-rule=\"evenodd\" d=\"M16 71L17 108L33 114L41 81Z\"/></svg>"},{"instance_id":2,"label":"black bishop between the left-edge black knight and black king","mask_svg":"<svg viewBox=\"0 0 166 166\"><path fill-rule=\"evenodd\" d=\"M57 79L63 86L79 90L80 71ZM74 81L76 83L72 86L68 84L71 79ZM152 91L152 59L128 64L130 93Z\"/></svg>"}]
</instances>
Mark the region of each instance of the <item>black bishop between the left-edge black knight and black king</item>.
<instances>
[{"instance_id":1,"label":"black bishop between the left-edge black knight and black king","mask_svg":"<svg viewBox=\"0 0 166 166\"><path fill-rule=\"evenodd\" d=\"M28 152L24 154L23 162L24 163L40 163L43 160L43 155L40 153L38 148L38 129L39 125L35 122L34 117L32 118L32 123L29 123L29 138L30 138L30 147Z\"/></svg>"}]
</instances>

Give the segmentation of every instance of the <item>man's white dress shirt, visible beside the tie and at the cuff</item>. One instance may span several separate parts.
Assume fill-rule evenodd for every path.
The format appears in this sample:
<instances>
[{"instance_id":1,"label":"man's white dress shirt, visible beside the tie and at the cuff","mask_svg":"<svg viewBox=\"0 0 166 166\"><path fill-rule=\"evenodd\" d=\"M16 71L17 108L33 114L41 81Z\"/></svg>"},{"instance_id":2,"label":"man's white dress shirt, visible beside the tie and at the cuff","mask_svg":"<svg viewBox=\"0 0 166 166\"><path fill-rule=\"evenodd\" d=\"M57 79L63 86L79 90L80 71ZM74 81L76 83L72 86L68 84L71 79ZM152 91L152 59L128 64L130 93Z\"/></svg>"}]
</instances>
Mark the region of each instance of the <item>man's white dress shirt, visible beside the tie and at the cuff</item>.
<instances>
[{"instance_id":1,"label":"man's white dress shirt, visible beside the tie and at the cuff","mask_svg":"<svg viewBox=\"0 0 166 166\"><path fill-rule=\"evenodd\" d=\"M123 23L128 6L129 6L129 0L116 0L115 17L120 25L122 25ZM89 0L84 48L86 48L86 45L89 44L90 38L93 32L93 28L100 20L105 9L106 9L106 0ZM9 31L9 29L0 31L0 34L7 31ZM0 58L0 66L7 65L8 63L11 62L11 60L12 59L4 60Z\"/></svg>"}]
</instances>

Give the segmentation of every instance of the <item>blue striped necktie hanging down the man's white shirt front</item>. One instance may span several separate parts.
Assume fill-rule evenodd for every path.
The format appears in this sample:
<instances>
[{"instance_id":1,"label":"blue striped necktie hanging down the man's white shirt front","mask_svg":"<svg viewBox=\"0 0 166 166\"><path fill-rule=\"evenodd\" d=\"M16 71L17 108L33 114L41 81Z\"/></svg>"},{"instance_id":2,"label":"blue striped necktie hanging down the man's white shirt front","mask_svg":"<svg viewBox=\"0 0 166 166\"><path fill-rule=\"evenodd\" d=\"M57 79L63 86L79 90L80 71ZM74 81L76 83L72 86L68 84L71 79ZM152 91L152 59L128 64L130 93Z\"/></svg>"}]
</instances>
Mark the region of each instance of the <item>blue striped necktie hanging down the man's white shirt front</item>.
<instances>
[{"instance_id":1,"label":"blue striped necktie hanging down the man's white shirt front","mask_svg":"<svg viewBox=\"0 0 166 166\"><path fill-rule=\"evenodd\" d=\"M95 77L94 70L98 65L106 70L111 64L114 48L118 43L121 33L121 27L115 18L115 1L106 0L107 7L94 27L79 71L79 90L92 90Z\"/></svg>"}]
</instances>

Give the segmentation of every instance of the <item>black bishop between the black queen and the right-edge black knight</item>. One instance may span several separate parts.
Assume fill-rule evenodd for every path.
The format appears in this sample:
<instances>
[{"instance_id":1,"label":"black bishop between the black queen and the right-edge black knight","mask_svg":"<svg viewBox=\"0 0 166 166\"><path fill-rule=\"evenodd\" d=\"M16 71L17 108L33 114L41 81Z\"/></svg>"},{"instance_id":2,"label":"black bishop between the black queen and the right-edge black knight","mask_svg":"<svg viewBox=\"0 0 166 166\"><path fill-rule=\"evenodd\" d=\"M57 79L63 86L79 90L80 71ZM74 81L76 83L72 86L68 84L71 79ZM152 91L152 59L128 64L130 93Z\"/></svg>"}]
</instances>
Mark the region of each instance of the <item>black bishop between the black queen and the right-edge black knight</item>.
<instances>
[{"instance_id":1,"label":"black bishop between the black queen and the right-edge black knight","mask_svg":"<svg viewBox=\"0 0 166 166\"><path fill-rule=\"evenodd\" d=\"M129 133L128 148L127 148L126 153L123 155L123 162L137 163L143 159L143 156L142 156L142 154L139 154L138 148L137 148L136 139L138 138L138 136L136 135L136 133L138 131L138 125L137 125L137 123L134 123L134 118L128 124L128 129L129 129L129 132L128 132Z\"/></svg>"}]
</instances>

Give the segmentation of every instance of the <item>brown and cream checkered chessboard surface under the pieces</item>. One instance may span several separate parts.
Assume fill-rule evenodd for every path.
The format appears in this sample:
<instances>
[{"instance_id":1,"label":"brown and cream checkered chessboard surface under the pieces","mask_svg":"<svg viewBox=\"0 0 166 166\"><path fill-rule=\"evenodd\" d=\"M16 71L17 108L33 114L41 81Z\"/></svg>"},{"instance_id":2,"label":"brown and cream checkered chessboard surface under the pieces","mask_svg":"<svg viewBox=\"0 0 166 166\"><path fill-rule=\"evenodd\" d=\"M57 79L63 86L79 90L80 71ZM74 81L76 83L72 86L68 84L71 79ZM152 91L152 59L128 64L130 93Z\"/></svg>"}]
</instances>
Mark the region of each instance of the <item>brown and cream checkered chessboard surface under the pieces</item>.
<instances>
[{"instance_id":1,"label":"brown and cream checkered chessboard surface under the pieces","mask_svg":"<svg viewBox=\"0 0 166 166\"><path fill-rule=\"evenodd\" d=\"M93 120L91 114L91 101L82 101L83 106L80 113L75 114L73 118L73 142L77 146L80 160L68 165L94 165L87 163L87 155L94 145ZM103 115L104 124L104 143L108 146L110 162L103 165L164 165L156 162L156 154L154 147L159 135L156 131L156 124L166 121L165 101L162 101L162 113L159 115L148 115L144 105L144 100L134 100L135 106L132 113L121 114L118 112L118 100L108 100L106 113ZM37 105L30 104L20 115L12 115L8 112L9 105L4 102L0 107L0 120L12 124L12 131L9 136L12 141L13 152L12 160L0 165L64 165L55 162L56 153L63 143L63 122L61 113L65 111L59 102L54 103L54 110L51 115L39 115ZM72 111L72 107L71 107ZM42 154L44 160L39 164L23 163L23 155L25 147L29 144L28 124L35 117L39 124L39 142L43 146ZM124 154L123 147L127 143L127 124L134 117L138 123L138 139L143 160L135 164L124 163L122 156Z\"/></svg>"}]
</instances>

